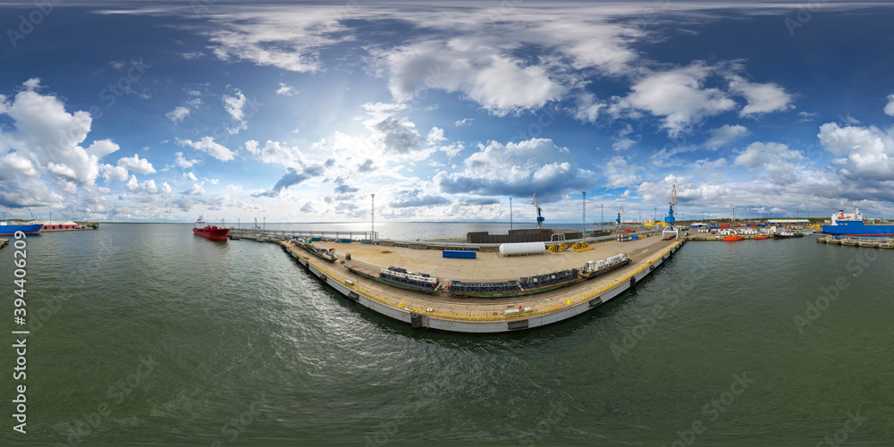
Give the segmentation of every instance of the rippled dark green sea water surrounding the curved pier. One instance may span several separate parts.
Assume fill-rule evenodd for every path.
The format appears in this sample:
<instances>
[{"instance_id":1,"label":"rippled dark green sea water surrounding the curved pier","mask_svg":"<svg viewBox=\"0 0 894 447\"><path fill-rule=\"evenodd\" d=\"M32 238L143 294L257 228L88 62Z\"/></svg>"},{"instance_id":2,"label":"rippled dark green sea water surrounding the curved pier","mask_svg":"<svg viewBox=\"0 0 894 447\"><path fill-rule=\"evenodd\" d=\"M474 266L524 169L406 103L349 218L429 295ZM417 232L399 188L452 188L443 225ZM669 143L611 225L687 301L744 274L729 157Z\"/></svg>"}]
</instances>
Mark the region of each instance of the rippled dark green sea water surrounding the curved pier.
<instances>
[{"instance_id":1,"label":"rippled dark green sea water surrounding the curved pier","mask_svg":"<svg viewBox=\"0 0 894 447\"><path fill-rule=\"evenodd\" d=\"M190 227L29 237L25 326L13 322L15 249L0 250L0 443L894 441L894 250L690 242L584 316L482 336L411 329L343 299L273 244ZM11 334L22 327L24 381L13 379ZM19 384L27 434L13 431Z\"/></svg>"}]
</instances>

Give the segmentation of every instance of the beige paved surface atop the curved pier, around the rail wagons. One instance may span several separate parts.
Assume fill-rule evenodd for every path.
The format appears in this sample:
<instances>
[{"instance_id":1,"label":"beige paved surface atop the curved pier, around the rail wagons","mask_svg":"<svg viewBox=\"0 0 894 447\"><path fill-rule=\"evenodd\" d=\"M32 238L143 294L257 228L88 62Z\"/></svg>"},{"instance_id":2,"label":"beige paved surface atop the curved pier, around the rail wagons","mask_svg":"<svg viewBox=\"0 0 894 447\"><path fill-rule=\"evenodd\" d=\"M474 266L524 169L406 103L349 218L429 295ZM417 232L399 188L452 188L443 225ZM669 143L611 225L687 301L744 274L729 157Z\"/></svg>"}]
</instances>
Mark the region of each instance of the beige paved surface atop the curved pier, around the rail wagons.
<instances>
[{"instance_id":1,"label":"beige paved surface atop the curved pier, around the rail wagons","mask_svg":"<svg viewBox=\"0 0 894 447\"><path fill-rule=\"evenodd\" d=\"M405 310L425 311L440 317L458 318L502 318L507 308L533 308L537 315L543 315L559 308L590 299L595 294L610 288L616 283L627 281L629 276L637 273L657 257L661 257L673 240L661 240L651 237L628 242L608 241L591 244L594 249L575 252L572 249L559 253L547 252L544 255L521 257L502 257L499 253L477 252L476 259L456 259L442 257L441 250L406 249L401 247L383 247L366 244L342 244L335 242L315 242L317 247L335 249L339 258L336 264L328 264L316 257L309 261L317 267L325 268L326 274L344 282L350 280L354 288L384 303ZM303 253L302 249L295 249ZM595 279L573 284L554 291L546 291L534 295L485 299L454 298L443 293L427 295L378 283L358 274L350 273L341 260L345 253L350 253L351 260L346 263L364 266L379 271L382 267L399 266L412 272L431 274L441 279L442 283L450 280L460 281L501 281L518 279L519 276L552 273L569 268L580 268L586 261L595 261L625 252L631 258L628 266L615 272L598 276Z\"/></svg>"}]
</instances>

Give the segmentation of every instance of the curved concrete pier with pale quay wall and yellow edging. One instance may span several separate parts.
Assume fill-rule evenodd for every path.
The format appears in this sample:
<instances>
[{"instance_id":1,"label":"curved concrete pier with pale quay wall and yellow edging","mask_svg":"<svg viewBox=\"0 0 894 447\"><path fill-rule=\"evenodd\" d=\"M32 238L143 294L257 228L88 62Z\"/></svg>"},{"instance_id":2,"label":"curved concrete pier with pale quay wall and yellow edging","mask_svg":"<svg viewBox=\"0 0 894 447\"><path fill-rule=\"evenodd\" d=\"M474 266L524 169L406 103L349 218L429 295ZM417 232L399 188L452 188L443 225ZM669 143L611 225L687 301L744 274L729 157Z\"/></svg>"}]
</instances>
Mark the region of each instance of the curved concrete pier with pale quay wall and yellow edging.
<instances>
[{"instance_id":1,"label":"curved concrete pier with pale quay wall and yellow edging","mask_svg":"<svg viewBox=\"0 0 894 447\"><path fill-rule=\"evenodd\" d=\"M602 305L634 287L661 266L685 243L685 239L661 240L654 236L624 242L606 240L593 245L592 250L567 249L517 257L479 250L475 259L445 258L440 249L426 249L428 244L401 247L397 244L313 242L317 249L335 249L334 263L316 257L296 240L279 240L279 243L300 266L307 268L335 291L384 316L414 328L460 333L503 333L549 325ZM350 259L346 259L348 253ZM579 269L587 261L619 253L627 253L630 257L627 266L594 279L514 297L460 298L443 291L424 293L393 287L368 277L382 268L397 266L417 274L437 277L442 283L451 280L509 281L522 276Z\"/></svg>"}]
</instances>

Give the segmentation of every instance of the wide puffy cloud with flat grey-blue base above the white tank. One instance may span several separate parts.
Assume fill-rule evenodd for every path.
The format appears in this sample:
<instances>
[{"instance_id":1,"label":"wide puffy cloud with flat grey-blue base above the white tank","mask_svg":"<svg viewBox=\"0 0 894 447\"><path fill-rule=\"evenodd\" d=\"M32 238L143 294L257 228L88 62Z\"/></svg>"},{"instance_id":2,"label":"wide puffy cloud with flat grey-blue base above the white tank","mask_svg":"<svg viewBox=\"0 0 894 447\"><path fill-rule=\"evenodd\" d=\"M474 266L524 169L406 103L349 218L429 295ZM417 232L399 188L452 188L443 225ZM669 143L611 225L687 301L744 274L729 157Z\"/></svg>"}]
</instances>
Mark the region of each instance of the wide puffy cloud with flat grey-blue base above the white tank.
<instances>
[{"instance_id":1,"label":"wide puffy cloud with flat grey-blue base above the white tank","mask_svg":"<svg viewBox=\"0 0 894 447\"><path fill-rule=\"evenodd\" d=\"M484 196L522 195L537 192L544 197L586 186L593 173L579 169L568 148L552 139L529 139L478 145L461 172L441 171L434 182L447 193Z\"/></svg>"}]
</instances>

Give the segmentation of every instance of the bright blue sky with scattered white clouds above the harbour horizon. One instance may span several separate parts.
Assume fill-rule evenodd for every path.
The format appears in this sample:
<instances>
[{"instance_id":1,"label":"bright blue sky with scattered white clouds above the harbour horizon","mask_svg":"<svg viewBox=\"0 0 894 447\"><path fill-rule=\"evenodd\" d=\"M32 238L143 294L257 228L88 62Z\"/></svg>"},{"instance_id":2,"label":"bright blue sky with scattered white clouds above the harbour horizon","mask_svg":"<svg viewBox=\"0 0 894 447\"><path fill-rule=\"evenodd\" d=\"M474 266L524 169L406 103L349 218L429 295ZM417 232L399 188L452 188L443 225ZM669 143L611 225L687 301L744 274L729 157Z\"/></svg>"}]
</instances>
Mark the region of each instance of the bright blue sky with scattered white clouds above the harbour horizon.
<instances>
[{"instance_id":1,"label":"bright blue sky with scattered white clouds above the harbour horizon","mask_svg":"<svg viewBox=\"0 0 894 447\"><path fill-rule=\"evenodd\" d=\"M894 218L894 4L0 5L0 209Z\"/></svg>"}]
</instances>

